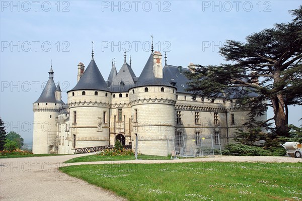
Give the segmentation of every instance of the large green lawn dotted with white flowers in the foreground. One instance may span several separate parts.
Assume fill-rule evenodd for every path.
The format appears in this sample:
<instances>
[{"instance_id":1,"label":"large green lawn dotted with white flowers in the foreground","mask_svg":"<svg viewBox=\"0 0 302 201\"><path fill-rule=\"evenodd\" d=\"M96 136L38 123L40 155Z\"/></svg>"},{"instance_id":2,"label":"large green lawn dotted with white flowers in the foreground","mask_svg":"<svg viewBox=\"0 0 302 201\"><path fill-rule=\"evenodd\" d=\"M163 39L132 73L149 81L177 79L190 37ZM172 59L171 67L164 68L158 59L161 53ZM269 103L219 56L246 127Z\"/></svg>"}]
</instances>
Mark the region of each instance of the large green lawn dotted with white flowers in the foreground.
<instances>
[{"instance_id":1,"label":"large green lawn dotted with white flowers in the foreground","mask_svg":"<svg viewBox=\"0 0 302 201\"><path fill-rule=\"evenodd\" d=\"M301 200L302 163L102 164L60 170L129 200Z\"/></svg>"}]
</instances>

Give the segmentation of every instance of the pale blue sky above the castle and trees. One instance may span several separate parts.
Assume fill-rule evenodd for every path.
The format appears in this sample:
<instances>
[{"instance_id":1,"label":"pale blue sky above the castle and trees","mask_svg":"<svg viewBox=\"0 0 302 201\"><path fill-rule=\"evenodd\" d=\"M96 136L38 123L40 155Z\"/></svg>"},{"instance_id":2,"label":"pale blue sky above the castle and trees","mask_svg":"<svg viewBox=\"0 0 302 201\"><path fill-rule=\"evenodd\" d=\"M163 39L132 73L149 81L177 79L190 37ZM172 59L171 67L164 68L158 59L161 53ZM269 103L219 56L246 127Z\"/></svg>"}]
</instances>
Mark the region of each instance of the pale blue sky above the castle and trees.
<instances>
[{"instance_id":1,"label":"pale blue sky above the castle and trees","mask_svg":"<svg viewBox=\"0 0 302 201\"><path fill-rule=\"evenodd\" d=\"M139 76L150 54L167 53L167 63L216 65L226 40L245 42L255 32L286 23L301 1L1 1L0 117L6 131L32 142L33 103L52 63L62 100L77 83L78 63L94 59L107 80L131 55ZM163 59L164 60L164 59ZM271 109L268 118L273 117ZM300 126L302 107L290 107L289 123Z\"/></svg>"}]
</instances>

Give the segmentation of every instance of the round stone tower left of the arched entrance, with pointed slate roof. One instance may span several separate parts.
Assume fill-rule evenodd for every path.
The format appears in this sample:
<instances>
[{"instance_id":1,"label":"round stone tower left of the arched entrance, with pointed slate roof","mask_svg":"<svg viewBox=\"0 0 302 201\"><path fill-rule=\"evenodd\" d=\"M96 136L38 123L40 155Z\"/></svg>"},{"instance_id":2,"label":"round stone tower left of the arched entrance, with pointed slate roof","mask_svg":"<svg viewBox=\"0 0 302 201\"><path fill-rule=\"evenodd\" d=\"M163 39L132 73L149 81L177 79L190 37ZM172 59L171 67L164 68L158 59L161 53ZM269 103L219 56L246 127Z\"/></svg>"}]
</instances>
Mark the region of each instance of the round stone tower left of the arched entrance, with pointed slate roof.
<instances>
[{"instance_id":1,"label":"round stone tower left of the arched entrance, with pointed slate roof","mask_svg":"<svg viewBox=\"0 0 302 201\"><path fill-rule=\"evenodd\" d=\"M72 149L109 145L111 92L93 54L77 85L67 91Z\"/></svg>"}]
</instances>

